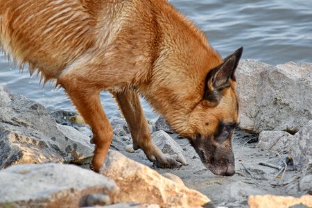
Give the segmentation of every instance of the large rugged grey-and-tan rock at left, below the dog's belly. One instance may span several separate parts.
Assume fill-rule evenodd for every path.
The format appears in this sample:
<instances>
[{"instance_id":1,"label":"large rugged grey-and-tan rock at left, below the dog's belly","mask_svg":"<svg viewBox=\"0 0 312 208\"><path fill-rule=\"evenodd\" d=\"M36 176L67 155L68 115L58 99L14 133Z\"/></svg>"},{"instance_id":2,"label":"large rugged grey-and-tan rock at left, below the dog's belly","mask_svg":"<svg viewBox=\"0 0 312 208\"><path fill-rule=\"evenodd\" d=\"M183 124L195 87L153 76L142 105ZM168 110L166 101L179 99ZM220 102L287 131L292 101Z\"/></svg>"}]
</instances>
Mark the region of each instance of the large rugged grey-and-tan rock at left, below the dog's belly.
<instances>
[{"instance_id":1,"label":"large rugged grey-and-tan rock at left, below the dog's belly","mask_svg":"<svg viewBox=\"0 0 312 208\"><path fill-rule=\"evenodd\" d=\"M11 97L0 106L0 169L12 164L71 162L92 156L89 137L60 125L39 103Z\"/></svg>"}]
</instances>

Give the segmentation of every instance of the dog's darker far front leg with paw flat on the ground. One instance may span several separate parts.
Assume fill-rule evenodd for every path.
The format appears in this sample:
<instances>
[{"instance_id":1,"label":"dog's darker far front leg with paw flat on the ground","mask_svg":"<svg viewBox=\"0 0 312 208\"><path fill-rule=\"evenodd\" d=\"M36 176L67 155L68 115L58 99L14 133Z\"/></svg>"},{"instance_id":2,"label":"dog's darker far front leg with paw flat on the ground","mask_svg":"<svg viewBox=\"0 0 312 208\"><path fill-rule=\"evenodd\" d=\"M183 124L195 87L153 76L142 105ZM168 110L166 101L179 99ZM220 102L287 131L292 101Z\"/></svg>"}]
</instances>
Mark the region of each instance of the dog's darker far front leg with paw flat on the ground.
<instances>
[{"instance_id":1,"label":"dog's darker far front leg with paw flat on the ground","mask_svg":"<svg viewBox=\"0 0 312 208\"><path fill-rule=\"evenodd\" d=\"M173 157L168 157L153 143L150 138L150 129L144 116L144 112L139 101L139 96L133 90L114 93L114 97L119 104L123 117L130 128L133 148L141 148L146 157L159 168L178 168L182 166Z\"/></svg>"}]
</instances>

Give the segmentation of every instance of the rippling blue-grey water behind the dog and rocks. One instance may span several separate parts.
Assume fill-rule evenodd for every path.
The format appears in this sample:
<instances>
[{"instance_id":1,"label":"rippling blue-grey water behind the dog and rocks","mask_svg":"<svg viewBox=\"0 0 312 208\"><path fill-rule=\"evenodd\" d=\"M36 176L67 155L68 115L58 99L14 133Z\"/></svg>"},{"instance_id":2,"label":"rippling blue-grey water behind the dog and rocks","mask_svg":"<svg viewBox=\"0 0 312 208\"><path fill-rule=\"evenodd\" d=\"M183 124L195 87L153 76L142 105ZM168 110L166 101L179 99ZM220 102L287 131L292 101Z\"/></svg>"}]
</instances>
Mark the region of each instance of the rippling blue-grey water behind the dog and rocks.
<instances>
[{"instance_id":1,"label":"rippling blue-grey water behind the dog and rocks","mask_svg":"<svg viewBox=\"0 0 312 208\"><path fill-rule=\"evenodd\" d=\"M244 46L243 58L268 64L288 61L312 62L311 0L172 0L173 5L192 19L209 37L209 42L226 56ZM24 94L49 110L74 110L62 89L44 89L37 78L21 75L0 55L0 85L14 94ZM118 114L110 94L102 103L108 116ZM143 103L148 119L155 114Z\"/></svg>"}]
</instances>

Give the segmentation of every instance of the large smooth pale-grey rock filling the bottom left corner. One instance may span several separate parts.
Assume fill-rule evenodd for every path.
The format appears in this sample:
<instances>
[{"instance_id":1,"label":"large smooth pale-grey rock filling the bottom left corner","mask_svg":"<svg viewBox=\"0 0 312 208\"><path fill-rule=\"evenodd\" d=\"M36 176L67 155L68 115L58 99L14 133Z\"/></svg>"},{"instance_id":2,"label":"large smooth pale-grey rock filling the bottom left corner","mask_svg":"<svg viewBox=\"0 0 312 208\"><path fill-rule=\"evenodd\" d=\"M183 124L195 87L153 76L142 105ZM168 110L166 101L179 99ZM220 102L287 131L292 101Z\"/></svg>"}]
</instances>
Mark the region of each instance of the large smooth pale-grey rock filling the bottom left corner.
<instances>
[{"instance_id":1,"label":"large smooth pale-grey rock filling the bottom left corner","mask_svg":"<svg viewBox=\"0 0 312 208\"><path fill-rule=\"evenodd\" d=\"M110 178L68 164L6 168L0 187L0 207L83 207L89 194L106 194L114 202L119 193Z\"/></svg>"}]
</instances>

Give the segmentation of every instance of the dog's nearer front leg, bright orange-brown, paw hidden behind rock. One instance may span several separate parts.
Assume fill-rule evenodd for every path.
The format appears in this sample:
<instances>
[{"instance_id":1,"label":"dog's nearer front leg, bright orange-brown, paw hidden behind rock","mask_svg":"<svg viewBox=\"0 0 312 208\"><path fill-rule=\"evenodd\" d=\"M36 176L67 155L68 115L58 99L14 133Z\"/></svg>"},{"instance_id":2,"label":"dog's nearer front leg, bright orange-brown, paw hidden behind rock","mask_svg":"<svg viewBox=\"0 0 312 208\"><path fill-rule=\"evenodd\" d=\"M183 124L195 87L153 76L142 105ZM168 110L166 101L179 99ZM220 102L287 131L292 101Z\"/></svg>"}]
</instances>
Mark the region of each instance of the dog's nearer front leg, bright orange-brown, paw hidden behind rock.
<instances>
[{"instance_id":1,"label":"dog's nearer front leg, bright orange-brown, paw hidden behind rock","mask_svg":"<svg viewBox=\"0 0 312 208\"><path fill-rule=\"evenodd\" d=\"M90 168L99 172L113 136L112 126L101 105L100 91L74 76L64 76L60 83L85 122L92 128L91 143L96 146Z\"/></svg>"}]
</instances>

